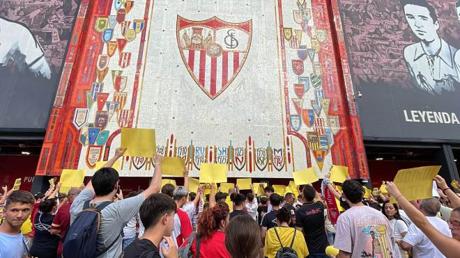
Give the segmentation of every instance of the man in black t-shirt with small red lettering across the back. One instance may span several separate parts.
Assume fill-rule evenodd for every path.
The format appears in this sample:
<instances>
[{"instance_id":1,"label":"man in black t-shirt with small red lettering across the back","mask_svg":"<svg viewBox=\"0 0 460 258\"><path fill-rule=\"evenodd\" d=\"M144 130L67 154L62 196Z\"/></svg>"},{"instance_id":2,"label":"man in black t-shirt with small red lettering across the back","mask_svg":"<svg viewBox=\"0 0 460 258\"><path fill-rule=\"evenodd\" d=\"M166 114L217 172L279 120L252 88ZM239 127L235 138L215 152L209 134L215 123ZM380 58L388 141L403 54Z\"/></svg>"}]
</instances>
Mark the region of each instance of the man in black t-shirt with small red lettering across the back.
<instances>
[{"instance_id":1,"label":"man in black t-shirt with small red lettering across the back","mask_svg":"<svg viewBox=\"0 0 460 258\"><path fill-rule=\"evenodd\" d=\"M302 189L302 199L305 203L296 211L296 228L303 231L305 242L310 255L327 257L325 248L328 247L328 236L325 233L324 204L314 201L316 190L313 186L305 185Z\"/></svg>"}]
</instances>

